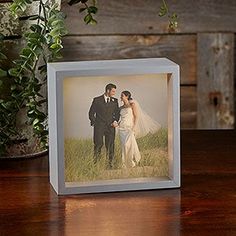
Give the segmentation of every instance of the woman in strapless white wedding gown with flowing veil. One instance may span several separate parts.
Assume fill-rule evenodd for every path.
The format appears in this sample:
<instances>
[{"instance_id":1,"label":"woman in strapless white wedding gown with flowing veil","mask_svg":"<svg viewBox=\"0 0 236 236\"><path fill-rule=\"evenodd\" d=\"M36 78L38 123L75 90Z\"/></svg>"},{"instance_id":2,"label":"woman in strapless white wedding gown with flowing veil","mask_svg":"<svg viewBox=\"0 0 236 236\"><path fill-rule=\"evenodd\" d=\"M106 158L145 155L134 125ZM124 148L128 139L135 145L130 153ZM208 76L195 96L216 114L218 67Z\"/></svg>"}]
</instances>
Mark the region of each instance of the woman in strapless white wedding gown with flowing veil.
<instances>
[{"instance_id":1,"label":"woman in strapless white wedding gown with flowing veil","mask_svg":"<svg viewBox=\"0 0 236 236\"><path fill-rule=\"evenodd\" d=\"M122 149L122 166L134 167L140 159L136 137L143 137L148 133L155 133L161 125L146 114L129 91L121 93L123 106L120 107L120 121L118 129Z\"/></svg>"}]
</instances>

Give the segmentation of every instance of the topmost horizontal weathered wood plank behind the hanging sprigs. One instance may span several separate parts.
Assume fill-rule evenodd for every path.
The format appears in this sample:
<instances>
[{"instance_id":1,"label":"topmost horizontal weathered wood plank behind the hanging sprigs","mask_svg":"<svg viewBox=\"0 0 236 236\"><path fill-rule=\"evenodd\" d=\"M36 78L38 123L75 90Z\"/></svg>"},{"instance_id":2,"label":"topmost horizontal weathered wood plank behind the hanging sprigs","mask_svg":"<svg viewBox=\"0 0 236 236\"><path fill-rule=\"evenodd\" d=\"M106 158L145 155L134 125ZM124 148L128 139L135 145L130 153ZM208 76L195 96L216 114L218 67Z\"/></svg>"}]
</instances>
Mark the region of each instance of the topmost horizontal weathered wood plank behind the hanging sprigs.
<instances>
[{"instance_id":1,"label":"topmost horizontal weathered wood plank behind the hanging sprigs","mask_svg":"<svg viewBox=\"0 0 236 236\"><path fill-rule=\"evenodd\" d=\"M179 16L176 33L235 32L236 1L234 0L169 0L170 13ZM86 26L84 14L78 7L62 1L62 11L67 14L70 34L157 34L168 33L168 18L159 17L161 0L99 0L96 27Z\"/></svg>"}]
</instances>

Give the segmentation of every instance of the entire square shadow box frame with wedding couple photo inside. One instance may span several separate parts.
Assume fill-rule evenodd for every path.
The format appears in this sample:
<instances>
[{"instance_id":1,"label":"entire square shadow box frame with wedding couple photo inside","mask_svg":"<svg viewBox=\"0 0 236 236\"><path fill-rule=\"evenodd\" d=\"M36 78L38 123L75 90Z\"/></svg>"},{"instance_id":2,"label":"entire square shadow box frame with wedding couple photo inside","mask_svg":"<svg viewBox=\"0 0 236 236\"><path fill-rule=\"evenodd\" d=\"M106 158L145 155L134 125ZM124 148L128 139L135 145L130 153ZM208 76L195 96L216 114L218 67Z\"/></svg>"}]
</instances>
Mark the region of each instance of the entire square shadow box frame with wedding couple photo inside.
<instances>
[{"instance_id":1,"label":"entire square shadow box frame with wedding couple photo inside","mask_svg":"<svg viewBox=\"0 0 236 236\"><path fill-rule=\"evenodd\" d=\"M180 75L166 58L48 64L58 195L180 187Z\"/></svg>"}]
</instances>

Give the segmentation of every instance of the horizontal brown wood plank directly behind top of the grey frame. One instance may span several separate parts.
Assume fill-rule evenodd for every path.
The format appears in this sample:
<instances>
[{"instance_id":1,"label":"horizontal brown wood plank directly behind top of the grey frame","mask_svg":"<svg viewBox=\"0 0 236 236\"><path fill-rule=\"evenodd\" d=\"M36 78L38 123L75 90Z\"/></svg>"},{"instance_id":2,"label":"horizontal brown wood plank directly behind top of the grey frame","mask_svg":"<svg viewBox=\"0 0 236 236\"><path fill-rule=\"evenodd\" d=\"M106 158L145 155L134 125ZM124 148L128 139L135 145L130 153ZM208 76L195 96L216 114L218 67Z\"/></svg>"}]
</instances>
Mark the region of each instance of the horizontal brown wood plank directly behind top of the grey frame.
<instances>
[{"instance_id":1,"label":"horizontal brown wood plank directly behind top of the grey frame","mask_svg":"<svg viewBox=\"0 0 236 236\"><path fill-rule=\"evenodd\" d=\"M196 85L194 35L68 36L63 61L167 57L181 68L181 84Z\"/></svg>"}]
</instances>

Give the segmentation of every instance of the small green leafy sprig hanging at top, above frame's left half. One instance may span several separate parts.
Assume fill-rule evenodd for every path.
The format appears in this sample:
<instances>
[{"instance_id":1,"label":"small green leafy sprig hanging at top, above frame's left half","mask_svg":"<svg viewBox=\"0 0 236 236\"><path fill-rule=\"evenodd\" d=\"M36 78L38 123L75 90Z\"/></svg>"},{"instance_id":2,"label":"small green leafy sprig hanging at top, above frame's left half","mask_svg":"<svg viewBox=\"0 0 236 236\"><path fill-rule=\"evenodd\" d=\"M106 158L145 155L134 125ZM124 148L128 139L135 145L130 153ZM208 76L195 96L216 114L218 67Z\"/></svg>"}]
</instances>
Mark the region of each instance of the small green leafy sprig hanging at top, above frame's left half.
<instances>
[{"instance_id":1,"label":"small green leafy sprig hanging at top, above frame's left half","mask_svg":"<svg viewBox=\"0 0 236 236\"><path fill-rule=\"evenodd\" d=\"M94 19L94 15L97 13L98 8L96 7L97 1L93 0L91 5L88 5L88 0L70 0L68 4L70 6L80 4L83 5L80 7L79 12L86 12L84 17L84 22L90 25L96 25L97 21Z\"/></svg>"}]
</instances>

